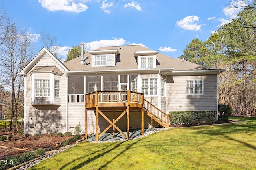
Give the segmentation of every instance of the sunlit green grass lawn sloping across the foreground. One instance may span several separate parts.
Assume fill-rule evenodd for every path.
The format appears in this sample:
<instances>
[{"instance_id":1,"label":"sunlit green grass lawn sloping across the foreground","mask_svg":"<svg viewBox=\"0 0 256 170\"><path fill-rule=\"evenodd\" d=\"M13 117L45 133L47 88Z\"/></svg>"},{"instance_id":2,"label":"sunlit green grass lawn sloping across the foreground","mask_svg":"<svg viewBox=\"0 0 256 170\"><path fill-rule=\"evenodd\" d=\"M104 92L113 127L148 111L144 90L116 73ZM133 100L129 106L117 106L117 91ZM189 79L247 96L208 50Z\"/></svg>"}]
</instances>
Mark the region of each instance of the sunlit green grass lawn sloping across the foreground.
<instances>
[{"instance_id":1,"label":"sunlit green grass lawn sloping across the foreground","mask_svg":"<svg viewBox=\"0 0 256 170\"><path fill-rule=\"evenodd\" d=\"M31 169L255 169L256 118L170 128L125 142L82 142Z\"/></svg>"}]
</instances>

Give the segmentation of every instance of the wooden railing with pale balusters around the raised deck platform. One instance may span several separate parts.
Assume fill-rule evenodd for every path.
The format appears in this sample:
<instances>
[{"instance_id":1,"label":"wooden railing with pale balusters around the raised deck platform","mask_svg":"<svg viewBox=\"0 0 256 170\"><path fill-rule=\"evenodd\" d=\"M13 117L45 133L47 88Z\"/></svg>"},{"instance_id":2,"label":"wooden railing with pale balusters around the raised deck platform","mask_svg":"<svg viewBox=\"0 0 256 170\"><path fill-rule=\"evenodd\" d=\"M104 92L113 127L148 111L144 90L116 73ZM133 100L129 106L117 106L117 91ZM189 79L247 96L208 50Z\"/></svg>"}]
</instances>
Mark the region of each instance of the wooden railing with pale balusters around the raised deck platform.
<instances>
[{"instance_id":1,"label":"wooden railing with pale balusters around the raised deck platform","mask_svg":"<svg viewBox=\"0 0 256 170\"><path fill-rule=\"evenodd\" d=\"M97 96L97 97L95 97ZM127 102L143 104L143 93L125 90L125 91L94 91L84 95L85 105L92 105L97 103L114 103Z\"/></svg>"}]
</instances>

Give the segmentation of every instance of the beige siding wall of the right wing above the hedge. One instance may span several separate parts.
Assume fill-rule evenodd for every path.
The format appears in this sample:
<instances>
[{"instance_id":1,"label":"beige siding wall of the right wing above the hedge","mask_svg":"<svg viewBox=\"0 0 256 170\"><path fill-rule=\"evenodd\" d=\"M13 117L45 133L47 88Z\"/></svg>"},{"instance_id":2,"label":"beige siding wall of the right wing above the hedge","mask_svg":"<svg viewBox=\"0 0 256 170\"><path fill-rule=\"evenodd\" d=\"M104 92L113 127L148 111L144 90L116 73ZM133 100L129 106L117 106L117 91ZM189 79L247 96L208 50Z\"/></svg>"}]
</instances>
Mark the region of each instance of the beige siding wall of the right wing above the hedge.
<instances>
[{"instance_id":1,"label":"beige siding wall of the right wing above the hedge","mask_svg":"<svg viewBox=\"0 0 256 170\"><path fill-rule=\"evenodd\" d=\"M203 79L203 95L186 95L186 80ZM166 105L169 111L216 110L216 75L168 76Z\"/></svg>"}]
</instances>

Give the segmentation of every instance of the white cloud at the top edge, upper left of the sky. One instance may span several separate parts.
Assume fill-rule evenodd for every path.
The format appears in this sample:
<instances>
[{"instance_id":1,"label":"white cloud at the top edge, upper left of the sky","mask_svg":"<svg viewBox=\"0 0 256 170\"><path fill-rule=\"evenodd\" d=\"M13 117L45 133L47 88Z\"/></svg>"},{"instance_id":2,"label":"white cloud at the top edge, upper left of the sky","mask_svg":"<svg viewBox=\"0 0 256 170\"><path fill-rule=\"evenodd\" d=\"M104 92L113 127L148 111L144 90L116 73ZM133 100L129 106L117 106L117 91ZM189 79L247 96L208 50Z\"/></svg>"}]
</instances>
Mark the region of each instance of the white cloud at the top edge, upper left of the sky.
<instances>
[{"instance_id":1,"label":"white cloud at the top edge, upper left of the sky","mask_svg":"<svg viewBox=\"0 0 256 170\"><path fill-rule=\"evenodd\" d=\"M88 9L84 4L88 0L38 0L49 11L82 12Z\"/></svg>"}]
</instances>

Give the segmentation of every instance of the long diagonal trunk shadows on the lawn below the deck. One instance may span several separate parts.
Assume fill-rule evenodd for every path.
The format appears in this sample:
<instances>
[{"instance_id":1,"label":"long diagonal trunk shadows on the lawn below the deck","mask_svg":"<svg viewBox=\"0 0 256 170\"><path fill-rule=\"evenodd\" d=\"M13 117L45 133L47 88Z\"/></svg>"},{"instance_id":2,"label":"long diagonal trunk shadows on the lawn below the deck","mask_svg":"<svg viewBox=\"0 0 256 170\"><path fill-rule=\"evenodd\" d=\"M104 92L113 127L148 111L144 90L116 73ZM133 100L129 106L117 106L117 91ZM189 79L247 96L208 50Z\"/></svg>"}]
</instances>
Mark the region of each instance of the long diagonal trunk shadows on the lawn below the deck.
<instances>
[{"instance_id":1,"label":"long diagonal trunk shadows on the lawn below the deck","mask_svg":"<svg viewBox=\"0 0 256 170\"><path fill-rule=\"evenodd\" d=\"M118 156L120 156L121 154L123 154L126 150L128 150L132 145L134 145L134 144L136 144L137 142L139 142L140 141L140 139L138 139L135 143L131 143L130 145L128 145L122 152L120 152L119 154L117 154L114 158L112 158L112 160L110 160L110 161L108 161L108 162L106 162L104 165L102 165L100 168L98 168L98 169L101 169L101 168L104 168L105 166L107 166L110 162L112 162L114 159L116 159ZM124 141L124 142L127 142L127 141ZM98 151L96 151L96 152L94 152L94 153L91 153L91 154L88 154L88 155L84 155L84 156L81 156L80 157L80 159L82 159L82 158L86 158L87 156L89 156L89 155L93 155L93 154L96 154L93 158L88 158L87 160L85 160L84 162L82 162L82 163L80 163L80 164L78 164L78 165L76 165L76 166L74 166L72 169L70 169L70 170L76 170L76 169L79 169L79 168L82 168L84 165L86 165L86 164L88 164L88 163L90 163L90 162L92 162L92 161L96 161L96 159L98 159L98 158L100 158L100 157L102 157L102 156L104 156L105 154L108 154L109 152L111 152L112 150L116 150L118 147L120 147L124 142L118 142L118 143L112 143L110 146L112 146L112 148L109 148L110 146L108 146L107 148L109 148L108 150L106 150L107 148L105 148L105 152L103 152L103 153L101 153L101 154L96 154L97 152L100 152L101 150L98 150ZM114 145L114 144L116 144L116 145ZM77 147L79 147L79 146L77 146ZM64 169L68 164L72 164L72 163L74 163L74 162L76 162L77 160L73 160L72 162L68 162L67 164L64 164L61 168L60 168L60 170L61 169Z\"/></svg>"}]
</instances>

